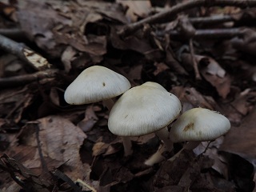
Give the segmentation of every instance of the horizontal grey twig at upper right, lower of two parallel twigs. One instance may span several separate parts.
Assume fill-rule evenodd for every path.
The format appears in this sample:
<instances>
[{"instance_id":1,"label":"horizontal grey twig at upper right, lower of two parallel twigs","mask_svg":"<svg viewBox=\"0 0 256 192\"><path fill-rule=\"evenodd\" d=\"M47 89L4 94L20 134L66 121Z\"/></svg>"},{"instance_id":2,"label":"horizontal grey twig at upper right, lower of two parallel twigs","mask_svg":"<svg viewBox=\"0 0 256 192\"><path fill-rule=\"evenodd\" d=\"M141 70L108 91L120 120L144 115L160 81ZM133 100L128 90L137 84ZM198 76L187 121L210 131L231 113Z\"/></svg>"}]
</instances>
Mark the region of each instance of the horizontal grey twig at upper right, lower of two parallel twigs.
<instances>
[{"instance_id":1,"label":"horizontal grey twig at upper right, lower of two parallel twigs","mask_svg":"<svg viewBox=\"0 0 256 192\"><path fill-rule=\"evenodd\" d=\"M242 33L242 29L240 28L196 30L193 38L233 38L234 36L240 35ZM166 31L166 34L170 34L172 38L178 38L181 36L177 30Z\"/></svg>"}]
</instances>

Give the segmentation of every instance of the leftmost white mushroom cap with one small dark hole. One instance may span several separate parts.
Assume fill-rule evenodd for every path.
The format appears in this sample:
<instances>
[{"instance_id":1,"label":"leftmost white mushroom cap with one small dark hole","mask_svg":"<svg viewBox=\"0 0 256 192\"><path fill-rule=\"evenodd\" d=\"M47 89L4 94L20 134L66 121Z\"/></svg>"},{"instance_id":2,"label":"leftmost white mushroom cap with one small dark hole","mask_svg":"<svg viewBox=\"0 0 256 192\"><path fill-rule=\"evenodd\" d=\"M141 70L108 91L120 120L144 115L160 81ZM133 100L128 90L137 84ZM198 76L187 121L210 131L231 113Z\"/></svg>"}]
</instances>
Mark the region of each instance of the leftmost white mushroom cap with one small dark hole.
<instances>
[{"instance_id":1,"label":"leftmost white mushroom cap with one small dark hole","mask_svg":"<svg viewBox=\"0 0 256 192\"><path fill-rule=\"evenodd\" d=\"M130 89L127 78L104 66L90 66L66 88L70 105L82 105L114 98Z\"/></svg>"}]
</instances>

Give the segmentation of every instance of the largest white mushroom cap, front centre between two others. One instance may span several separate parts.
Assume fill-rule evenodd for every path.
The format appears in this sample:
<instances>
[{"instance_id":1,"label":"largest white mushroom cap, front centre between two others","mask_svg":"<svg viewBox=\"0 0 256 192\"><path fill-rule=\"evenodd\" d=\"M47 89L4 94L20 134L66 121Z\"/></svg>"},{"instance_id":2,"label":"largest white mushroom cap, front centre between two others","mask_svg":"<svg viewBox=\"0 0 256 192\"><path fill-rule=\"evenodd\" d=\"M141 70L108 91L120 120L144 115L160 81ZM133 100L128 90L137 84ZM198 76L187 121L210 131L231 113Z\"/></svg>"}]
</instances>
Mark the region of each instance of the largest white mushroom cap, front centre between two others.
<instances>
[{"instance_id":1,"label":"largest white mushroom cap, front centre between two others","mask_svg":"<svg viewBox=\"0 0 256 192\"><path fill-rule=\"evenodd\" d=\"M108 126L119 136L150 134L168 126L181 110L174 94L153 86L135 86L114 104Z\"/></svg>"}]
</instances>

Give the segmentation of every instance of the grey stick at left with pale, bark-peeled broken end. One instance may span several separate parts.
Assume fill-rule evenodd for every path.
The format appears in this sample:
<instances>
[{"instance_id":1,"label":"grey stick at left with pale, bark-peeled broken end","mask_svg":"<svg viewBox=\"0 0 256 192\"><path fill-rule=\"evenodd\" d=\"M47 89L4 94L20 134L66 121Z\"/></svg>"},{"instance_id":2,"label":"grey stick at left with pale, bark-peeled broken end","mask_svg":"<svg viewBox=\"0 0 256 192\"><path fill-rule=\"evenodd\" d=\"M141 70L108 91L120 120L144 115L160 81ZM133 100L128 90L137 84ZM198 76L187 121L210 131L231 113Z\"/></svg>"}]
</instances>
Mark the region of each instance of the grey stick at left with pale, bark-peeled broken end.
<instances>
[{"instance_id":1,"label":"grey stick at left with pale, bark-peeled broken end","mask_svg":"<svg viewBox=\"0 0 256 192\"><path fill-rule=\"evenodd\" d=\"M30 50L23 43L14 42L10 38L0 34L0 48L10 54L14 54L23 62L32 66L35 70L46 70L50 68L50 63L46 58Z\"/></svg>"}]
</instances>

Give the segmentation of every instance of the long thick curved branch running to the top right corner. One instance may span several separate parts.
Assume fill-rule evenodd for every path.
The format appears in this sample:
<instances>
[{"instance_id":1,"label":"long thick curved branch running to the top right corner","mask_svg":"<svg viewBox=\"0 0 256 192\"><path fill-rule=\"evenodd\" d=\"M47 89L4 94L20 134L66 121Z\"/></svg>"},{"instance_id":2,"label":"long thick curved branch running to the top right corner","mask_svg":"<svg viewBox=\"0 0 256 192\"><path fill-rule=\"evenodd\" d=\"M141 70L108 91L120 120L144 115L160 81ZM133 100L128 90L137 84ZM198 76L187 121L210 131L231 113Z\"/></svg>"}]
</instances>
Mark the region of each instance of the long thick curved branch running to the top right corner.
<instances>
[{"instance_id":1,"label":"long thick curved branch running to the top right corner","mask_svg":"<svg viewBox=\"0 0 256 192\"><path fill-rule=\"evenodd\" d=\"M125 38L129 34L132 34L134 31L141 29L142 26L146 23L153 24L157 22L170 22L173 20L178 13L182 12L183 10L189 10L194 7L198 6L238 6L241 8L246 8L248 6L256 6L255 0L195 0L189 2L183 2L176 6L172 6L169 10L164 10L158 14L154 14L148 18L144 18L138 22L131 23L127 26L124 26L122 30L118 31L118 34Z\"/></svg>"}]
</instances>

